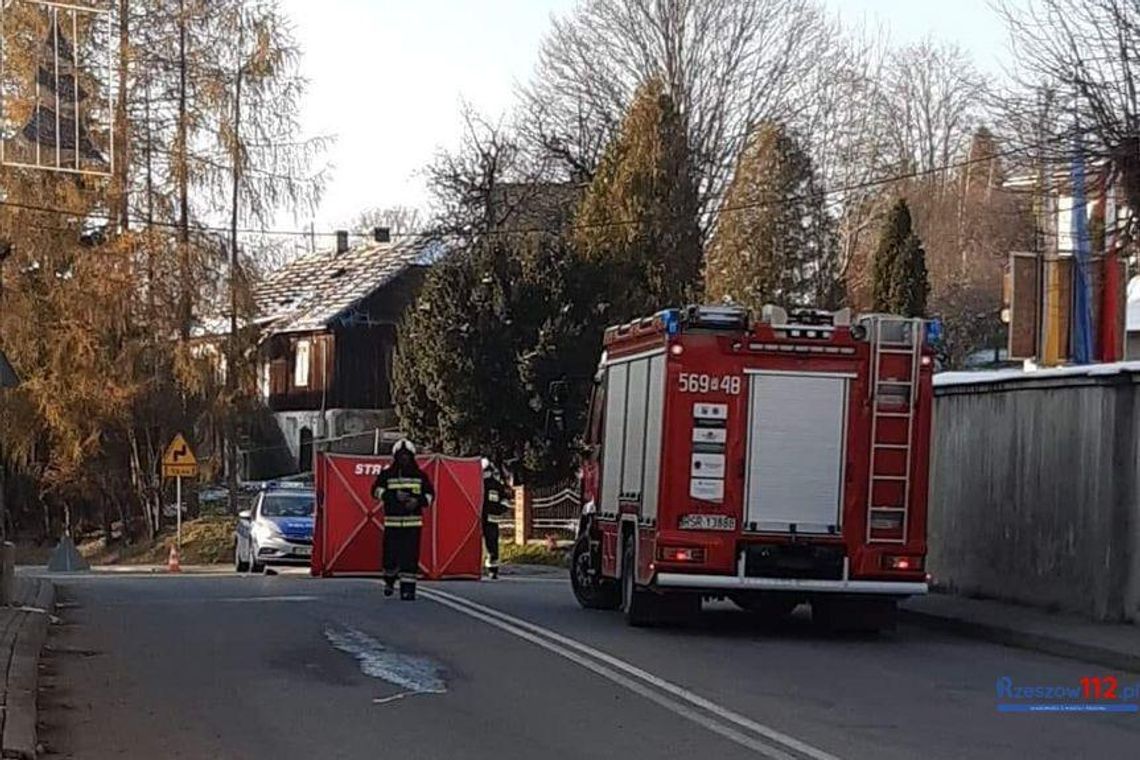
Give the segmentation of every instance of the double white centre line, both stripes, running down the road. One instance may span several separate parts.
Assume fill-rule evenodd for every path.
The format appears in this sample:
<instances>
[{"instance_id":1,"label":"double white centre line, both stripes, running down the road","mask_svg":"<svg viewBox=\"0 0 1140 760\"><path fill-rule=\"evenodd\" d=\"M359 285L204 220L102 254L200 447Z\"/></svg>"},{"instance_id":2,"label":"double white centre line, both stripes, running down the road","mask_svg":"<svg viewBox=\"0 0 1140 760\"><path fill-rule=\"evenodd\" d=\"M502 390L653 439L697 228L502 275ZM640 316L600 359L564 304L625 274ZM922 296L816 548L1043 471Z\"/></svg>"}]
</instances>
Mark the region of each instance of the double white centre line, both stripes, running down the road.
<instances>
[{"instance_id":1,"label":"double white centre line, both stripes, running down the road","mask_svg":"<svg viewBox=\"0 0 1140 760\"><path fill-rule=\"evenodd\" d=\"M793 736L789 736L788 734L771 728L769 726L759 724L746 716L702 697L699 694L690 692L683 686L654 676L653 673L642 670L641 668L637 668L636 665L633 665L624 660L606 654L605 652L596 649L589 645L583 644L577 639L572 639L554 630L544 628L543 626L537 626L499 610L481 605L477 602L472 602L464 597L441 591L435 588L423 589L422 594L432 602L442 604L471 618L481 620L490 626L495 626L496 628L505 630L514 636L518 636L519 638L526 639L532 644L542 646L545 649L559 654L560 656L565 657L567 660L570 660L587 670L602 676L603 678L619 684L629 690L635 692L636 694L640 694L641 696L644 696L652 702L656 702L657 704L683 716L703 726L705 728L708 728L709 730L720 734L738 744L764 754L765 757L780 758L781 760L791 759L791 755L783 752L781 749L777 749L777 746L763 744L755 738L742 734L732 726L725 726L722 722L710 720L707 716L692 710L683 703L705 710L723 721L752 732L754 734L763 736L767 742L782 746L787 750L792 750L801 755L812 758L813 760L839 760L837 755L824 752L819 747L812 746L811 744L801 742ZM659 692L646 688L645 685L656 687L657 689L660 689L660 692L665 692L675 698L670 698ZM681 702L678 702L678 700Z\"/></svg>"}]
</instances>

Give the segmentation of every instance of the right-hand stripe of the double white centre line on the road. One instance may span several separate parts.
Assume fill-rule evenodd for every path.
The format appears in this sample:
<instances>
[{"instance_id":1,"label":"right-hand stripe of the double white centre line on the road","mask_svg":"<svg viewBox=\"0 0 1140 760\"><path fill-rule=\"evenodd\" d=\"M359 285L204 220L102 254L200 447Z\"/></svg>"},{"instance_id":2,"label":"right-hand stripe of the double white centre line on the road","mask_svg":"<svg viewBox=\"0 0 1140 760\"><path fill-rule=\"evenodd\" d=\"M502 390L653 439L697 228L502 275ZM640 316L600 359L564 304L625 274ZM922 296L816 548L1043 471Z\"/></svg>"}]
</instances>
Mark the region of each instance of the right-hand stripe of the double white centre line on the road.
<instances>
[{"instance_id":1,"label":"right-hand stripe of the double white centre line on the road","mask_svg":"<svg viewBox=\"0 0 1140 760\"><path fill-rule=\"evenodd\" d=\"M565 646L570 649L575 649L576 652L580 652L581 654L594 657L595 660L598 660L610 665L611 668L614 668L624 673L627 673L628 676L633 676L634 678L641 679L642 681L650 684L661 689L662 692L666 692L677 697L678 700L682 700L684 702L687 702L689 704L706 710L717 716L718 718L726 720L731 724L734 724L741 728L746 728L756 734L759 734L769 742L774 742L787 749L795 750L796 752L805 754L812 758L813 760L839 760L838 757L829 752L824 752L823 750L812 746L811 744L807 744L805 742L801 742L793 736L789 736L788 734L779 732L769 726L765 726L764 724L757 722L751 718L742 716L738 712L734 712L733 710L730 710L728 708L725 708L723 705L712 702L711 700L708 700L699 694L695 694L684 688L683 686L679 686L663 678L654 676L653 673L642 670L641 668L633 665L626 662L625 660L619 660L613 655L602 652L601 649L596 649L587 644L583 644L577 639L563 636L557 631L544 628L543 626L537 626L529 621L515 618L499 610L481 605L477 602L472 602L464 597L448 594L447 591L441 591L439 589L424 589L424 593L430 598L432 598L432 600L439 602L440 604L442 604L445 600L451 602L453 605L463 606L466 610L470 610L471 612L469 612L469 614L478 612L483 615L490 615L496 620L504 622L505 624L521 628L524 631L530 631L531 634L537 634L538 636L546 637L547 639L561 644L562 646Z\"/></svg>"}]
</instances>

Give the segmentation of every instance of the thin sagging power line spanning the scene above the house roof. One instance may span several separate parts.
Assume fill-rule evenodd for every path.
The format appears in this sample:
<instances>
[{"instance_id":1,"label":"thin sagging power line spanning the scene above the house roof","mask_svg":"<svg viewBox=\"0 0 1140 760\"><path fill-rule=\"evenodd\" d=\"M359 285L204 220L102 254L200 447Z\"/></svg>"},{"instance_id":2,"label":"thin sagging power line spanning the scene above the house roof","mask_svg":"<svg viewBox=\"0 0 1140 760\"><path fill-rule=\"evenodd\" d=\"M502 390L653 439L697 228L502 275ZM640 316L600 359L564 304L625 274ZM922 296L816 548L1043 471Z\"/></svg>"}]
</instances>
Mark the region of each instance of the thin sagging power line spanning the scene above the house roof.
<instances>
[{"instance_id":1,"label":"thin sagging power line spanning the scene above the house roof","mask_svg":"<svg viewBox=\"0 0 1140 760\"><path fill-rule=\"evenodd\" d=\"M927 167L927 169L919 169L919 170L913 170L913 171L909 171L909 172L901 172L901 173L897 173L897 174L891 174L891 175L887 175L887 177L879 177L879 178L874 178L874 179L870 179L870 180L864 180L864 181L861 181L861 182L853 182L853 183L848 183L848 185L844 185L844 186L839 186L839 187L833 187L833 188L823 188L823 189L820 189L820 190L814 191L814 193L804 193L804 194L800 194L800 195L797 195L797 196L790 196L790 197L784 197L784 198L779 198L779 199L756 201L756 202L750 202L750 203L740 203L740 204L734 204L734 205L725 205L725 206L720 206L718 209L707 209L707 210L700 212L699 215L700 216L714 216L714 215L724 214L724 213L736 213L736 212L741 212L741 211L754 211L754 210L760 210L760 209L768 209L768 207L773 207L773 206L788 205L788 204L791 204L791 203L797 203L797 202L803 202L803 201L820 199L820 198L825 198L825 197L836 196L836 195L855 193L855 191L858 191L858 190L869 190L869 189L873 189L873 188L877 188L877 187L883 187L883 186L888 186L888 185L895 185L895 183L898 183L898 182L904 182L906 180L921 179L921 178L925 178L925 177L934 177L934 175L937 175L937 174L943 174L945 172L955 171L955 170L959 170L959 169L966 169L966 167L975 165L975 164L988 163L988 162L992 162L992 161L995 161L995 160L999 160L999 158L1008 158L1008 157L1016 156L1016 155L1019 155L1019 154L1028 153L1028 152L1032 152L1032 150L1037 149L1037 148L1043 148L1043 147L1045 147L1048 145L1051 145L1051 144L1059 142L1061 140L1072 139L1072 138L1076 137L1077 134L1081 134L1083 137L1083 136L1091 134L1092 132L1093 132L1093 130L1091 128L1083 128L1083 129L1078 129L1078 130L1077 129L1068 130L1065 133L1057 134L1057 136L1053 136L1051 138L1047 138L1044 140L1040 140L1037 142L1026 144L1026 145L1023 145L1020 147L1015 147L1015 148L1007 148L1004 150L999 150L996 153L987 154L985 156L979 156L979 157L976 157L976 158L966 158L966 160L962 160L962 161L951 162L951 163L942 164L942 165L938 165L938 166L930 166L930 167ZM31 212L35 212L35 213L50 213L50 214L67 215L67 216L75 216L75 218L85 218L85 216L90 215L90 213L91 213L89 211L60 209L60 207L54 207L54 206L43 206L43 205L36 205L36 204L30 204L30 203L21 203L21 202L16 202L16 201L7 201L7 199L0 201L0 206L2 206L2 207L9 207L9 209L19 209L19 210L23 210L23 211L31 211ZM146 227L161 227L161 228L165 228L165 229L180 229L181 228L181 224L179 224L176 221L147 220L145 218L139 218L139 216L130 216L129 219L130 219L131 223L139 223L139 224L142 224L142 226L146 226ZM684 215L682 215L682 214L674 214L671 216L665 216L662 219L662 221L678 221L678 220L683 220L683 219L685 219ZM565 226L557 226L557 227L536 226L536 227L526 227L526 228L480 230L478 234L479 235L486 235L486 236L561 234L561 232L577 231L577 230L606 229L606 228L612 228L612 227L628 227L628 226L633 226L633 224L641 224L645 220L642 219L642 218L636 218L636 219L612 219L612 220L606 220L606 221L601 221L601 222L579 222L579 223L565 224ZM195 231L198 231L198 232L218 232L218 234L227 234L227 235L230 232L230 228L229 227L222 227L222 226L193 224L192 227L193 227L193 229ZM242 235L260 235L260 236L266 236L266 237L310 237L310 236L333 237L333 236L339 235L342 231L344 231L344 230L316 231L316 230L311 230L311 229L272 229L272 228L251 228L251 227L239 227L239 228L237 228L237 232L242 234ZM349 230L348 234L349 234L349 236L356 237L356 238L369 238L369 237L372 237L370 232L355 232L355 231ZM392 237L392 238L422 238L422 237L432 237L432 235L430 232L429 234L422 234L422 232L391 232L390 237ZM446 237L463 237L463 236L461 234L453 232L453 234L441 235L440 237L445 237L446 238Z\"/></svg>"}]
</instances>

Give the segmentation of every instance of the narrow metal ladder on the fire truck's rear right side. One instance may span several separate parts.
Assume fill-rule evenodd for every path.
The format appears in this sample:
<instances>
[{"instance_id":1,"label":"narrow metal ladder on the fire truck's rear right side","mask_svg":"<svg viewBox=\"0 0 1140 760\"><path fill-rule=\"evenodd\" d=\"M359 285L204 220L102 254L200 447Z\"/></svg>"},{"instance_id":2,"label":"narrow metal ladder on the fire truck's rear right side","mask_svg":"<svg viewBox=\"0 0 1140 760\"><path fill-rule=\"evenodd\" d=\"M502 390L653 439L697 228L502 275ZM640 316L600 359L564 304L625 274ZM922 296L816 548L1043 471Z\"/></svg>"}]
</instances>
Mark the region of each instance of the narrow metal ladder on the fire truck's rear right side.
<instances>
[{"instance_id":1,"label":"narrow metal ladder on the fire truck's rear right side","mask_svg":"<svg viewBox=\"0 0 1140 760\"><path fill-rule=\"evenodd\" d=\"M922 320L874 316L869 321L872 346L871 483L866 495L866 540L869 544L905 544L910 528L911 448L922 358ZM905 436L899 434L899 428L905 430ZM883 492L896 498L901 493L902 502L883 498ZM877 523L880 528L876 528ZM890 528L882 528L882 524ZM895 525L902 529L897 534ZM881 536L886 531L891 536Z\"/></svg>"}]
</instances>

